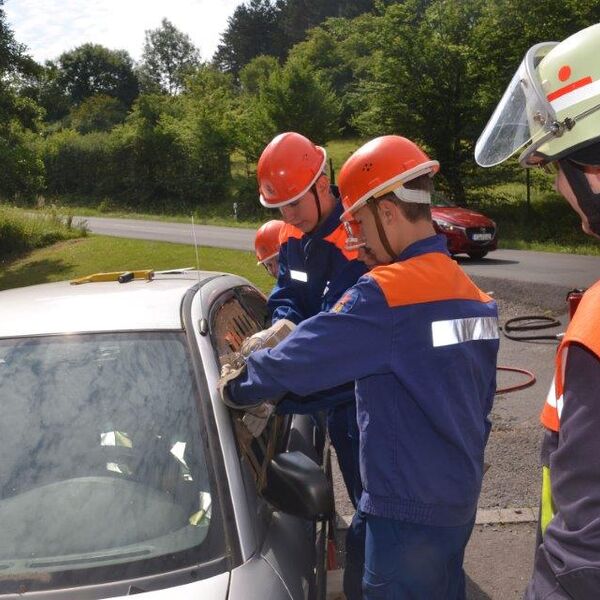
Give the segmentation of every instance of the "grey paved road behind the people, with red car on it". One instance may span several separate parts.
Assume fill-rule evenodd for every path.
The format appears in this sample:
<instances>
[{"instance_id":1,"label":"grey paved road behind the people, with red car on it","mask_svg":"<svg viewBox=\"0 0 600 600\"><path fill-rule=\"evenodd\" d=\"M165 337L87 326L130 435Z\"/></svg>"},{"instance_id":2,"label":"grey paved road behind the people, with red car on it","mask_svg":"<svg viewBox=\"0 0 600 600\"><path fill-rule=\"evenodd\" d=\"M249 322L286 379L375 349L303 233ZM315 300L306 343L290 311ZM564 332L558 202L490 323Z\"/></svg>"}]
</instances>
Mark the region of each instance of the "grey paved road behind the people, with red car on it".
<instances>
[{"instance_id":1,"label":"grey paved road behind the people, with red car on it","mask_svg":"<svg viewBox=\"0 0 600 600\"><path fill-rule=\"evenodd\" d=\"M184 223L134 219L84 218L90 231L102 235L193 244L192 226ZM196 225L201 246L252 250L254 230ZM587 287L600 277L600 257L549 252L497 250L487 258L460 259L471 275L509 279L526 283L554 284L566 288Z\"/></svg>"}]
</instances>

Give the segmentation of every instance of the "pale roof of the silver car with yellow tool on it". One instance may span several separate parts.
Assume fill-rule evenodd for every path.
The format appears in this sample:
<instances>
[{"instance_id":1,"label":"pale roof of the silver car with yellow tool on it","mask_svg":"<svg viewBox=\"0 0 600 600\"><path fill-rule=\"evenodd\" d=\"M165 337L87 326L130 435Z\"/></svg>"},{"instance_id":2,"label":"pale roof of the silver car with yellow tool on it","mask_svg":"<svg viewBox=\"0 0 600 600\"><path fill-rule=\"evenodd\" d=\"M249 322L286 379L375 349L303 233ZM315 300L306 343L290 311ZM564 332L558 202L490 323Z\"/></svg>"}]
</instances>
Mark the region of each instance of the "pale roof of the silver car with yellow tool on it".
<instances>
[{"instance_id":1,"label":"pale roof of the silver car with yellow tool on it","mask_svg":"<svg viewBox=\"0 0 600 600\"><path fill-rule=\"evenodd\" d=\"M151 281L63 281L6 290L0 292L0 338L182 329L181 303L187 290L224 276L181 270L156 273Z\"/></svg>"}]
</instances>

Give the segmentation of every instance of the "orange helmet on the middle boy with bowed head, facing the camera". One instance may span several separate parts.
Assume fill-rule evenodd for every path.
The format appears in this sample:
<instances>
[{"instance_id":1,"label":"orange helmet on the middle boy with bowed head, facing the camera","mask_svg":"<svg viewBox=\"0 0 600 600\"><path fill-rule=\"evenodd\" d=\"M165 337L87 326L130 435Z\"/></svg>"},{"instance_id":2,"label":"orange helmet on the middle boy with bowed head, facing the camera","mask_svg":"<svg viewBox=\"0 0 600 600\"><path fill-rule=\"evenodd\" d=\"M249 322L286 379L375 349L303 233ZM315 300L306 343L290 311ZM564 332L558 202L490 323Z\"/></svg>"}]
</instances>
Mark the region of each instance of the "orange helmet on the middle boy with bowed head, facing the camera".
<instances>
[{"instance_id":1,"label":"orange helmet on the middle boy with bowed head, facing the camera","mask_svg":"<svg viewBox=\"0 0 600 600\"><path fill-rule=\"evenodd\" d=\"M279 208L301 198L325 169L327 153L299 133L274 137L258 159L260 203Z\"/></svg>"}]
</instances>

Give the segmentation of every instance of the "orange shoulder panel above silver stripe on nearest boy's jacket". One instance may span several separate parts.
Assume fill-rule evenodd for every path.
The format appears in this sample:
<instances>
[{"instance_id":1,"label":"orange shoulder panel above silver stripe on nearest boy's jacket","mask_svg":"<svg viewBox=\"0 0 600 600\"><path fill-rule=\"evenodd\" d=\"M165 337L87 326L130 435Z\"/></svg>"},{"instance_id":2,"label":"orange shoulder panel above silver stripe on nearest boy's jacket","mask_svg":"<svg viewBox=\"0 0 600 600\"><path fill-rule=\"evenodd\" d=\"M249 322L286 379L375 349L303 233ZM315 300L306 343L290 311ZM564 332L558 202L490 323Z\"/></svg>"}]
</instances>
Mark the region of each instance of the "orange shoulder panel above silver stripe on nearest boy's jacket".
<instances>
[{"instance_id":1,"label":"orange shoulder panel above silver stripe on nearest boy's jacket","mask_svg":"<svg viewBox=\"0 0 600 600\"><path fill-rule=\"evenodd\" d=\"M381 288L390 307L443 300L492 300L449 256L441 252L375 267L369 275Z\"/></svg>"}]
</instances>

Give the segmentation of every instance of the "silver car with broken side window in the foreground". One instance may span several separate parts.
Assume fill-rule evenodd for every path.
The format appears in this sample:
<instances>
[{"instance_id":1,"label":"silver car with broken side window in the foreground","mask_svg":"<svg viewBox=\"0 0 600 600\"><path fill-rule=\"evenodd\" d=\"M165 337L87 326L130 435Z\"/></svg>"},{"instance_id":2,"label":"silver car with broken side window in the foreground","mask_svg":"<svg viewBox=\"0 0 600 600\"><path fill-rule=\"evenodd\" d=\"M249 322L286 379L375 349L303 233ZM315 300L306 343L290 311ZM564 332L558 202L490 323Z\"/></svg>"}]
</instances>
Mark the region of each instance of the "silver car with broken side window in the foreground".
<instances>
[{"instance_id":1,"label":"silver car with broken side window in the foreground","mask_svg":"<svg viewBox=\"0 0 600 600\"><path fill-rule=\"evenodd\" d=\"M216 390L267 321L233 275L0 292L0 599L323 598L322 429Z\"/></svg>"}]
</instances>

